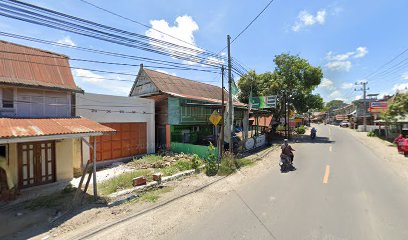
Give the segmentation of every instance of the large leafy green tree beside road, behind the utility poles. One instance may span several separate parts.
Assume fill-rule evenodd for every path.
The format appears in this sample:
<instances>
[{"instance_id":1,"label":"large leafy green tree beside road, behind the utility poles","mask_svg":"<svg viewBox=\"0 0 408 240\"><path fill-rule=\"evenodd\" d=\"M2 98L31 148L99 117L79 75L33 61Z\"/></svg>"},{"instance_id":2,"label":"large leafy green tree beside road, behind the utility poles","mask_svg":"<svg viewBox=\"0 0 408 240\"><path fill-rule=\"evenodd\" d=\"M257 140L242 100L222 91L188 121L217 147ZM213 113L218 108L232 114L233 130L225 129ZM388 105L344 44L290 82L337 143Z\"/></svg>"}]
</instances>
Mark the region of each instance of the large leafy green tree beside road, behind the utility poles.
<instances>
[{"instance_id":1,"label":"large leafy green tree beside road, behind the utility poles","mask_svg":"<svg viewBox=\"0 0 408 240\"><path fill-rule=\"evenodd\" d=\"M320 67L310 65L306 59L297 55L286 53L275 56L274 63L276 67L273 72L257 75L255 71L250 71L241 77L238 82L241 101L248 102L252 85L253 96L277 96L277 108L274 109L277 118L284 114L285 96L290 103L289 108L298 113L323 107L320 95L312 94L323 78Z\"/></svg>"}]
</instances>

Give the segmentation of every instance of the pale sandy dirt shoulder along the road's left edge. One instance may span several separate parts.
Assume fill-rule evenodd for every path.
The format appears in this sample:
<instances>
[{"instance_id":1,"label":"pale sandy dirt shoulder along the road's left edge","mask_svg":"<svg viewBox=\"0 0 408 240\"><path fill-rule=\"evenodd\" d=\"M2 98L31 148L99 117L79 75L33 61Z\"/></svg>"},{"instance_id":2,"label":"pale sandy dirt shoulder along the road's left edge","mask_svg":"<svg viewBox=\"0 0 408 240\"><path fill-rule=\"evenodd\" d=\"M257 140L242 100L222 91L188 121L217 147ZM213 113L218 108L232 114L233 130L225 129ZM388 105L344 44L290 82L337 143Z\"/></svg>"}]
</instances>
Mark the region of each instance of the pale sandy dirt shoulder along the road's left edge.
<instances>
[{"instance_id":1,"label":"pale sandy dirt shoulder along the road's left edge","mask_svg":"<svg viewBox=\"0 0 408 240\"><path fill-rule=\"evenodd\" d=\"M53 209L40 209L35 212L40 214L38 219L48 219L49 221L39 222L20 232L15 232L13 229L9 232L14 232L14 234L7 235L4 239L78 239L82 238L84 233L104 228L122 219L141 215L144 216L143 221L137 226L140 230L140 236L145 236L144 239L157 239L164 233L169 234L171 229L181 222L188 222L191 216L199 216L200 213L213 209L224 194L231 192L231 187L250 181L253 174L263 174L270 168L276 167L279 154L274 150L276 150L276 146L247 156L262 161L242 168L237 174L228 177L207 177L204 174L198 174L168 182L165 186L169 187L171 191L161 194L157 202L131 201L109 207L104 204L88 204L83 208L67 213L55 213ZM202 188L205 190L201 190ZM208 202L209 198L212 200L211 203ZM211 206L209 207L208 204ZM171 207L154 209L161 205L171 205ZM49 216L57 216L58 214L62 216L50 223L52 219ZM17 216L15 211L10 212L9 217L23 219L22 216ZM132 237L130 236L130 238Z\"/></svg>"}]
</instances>

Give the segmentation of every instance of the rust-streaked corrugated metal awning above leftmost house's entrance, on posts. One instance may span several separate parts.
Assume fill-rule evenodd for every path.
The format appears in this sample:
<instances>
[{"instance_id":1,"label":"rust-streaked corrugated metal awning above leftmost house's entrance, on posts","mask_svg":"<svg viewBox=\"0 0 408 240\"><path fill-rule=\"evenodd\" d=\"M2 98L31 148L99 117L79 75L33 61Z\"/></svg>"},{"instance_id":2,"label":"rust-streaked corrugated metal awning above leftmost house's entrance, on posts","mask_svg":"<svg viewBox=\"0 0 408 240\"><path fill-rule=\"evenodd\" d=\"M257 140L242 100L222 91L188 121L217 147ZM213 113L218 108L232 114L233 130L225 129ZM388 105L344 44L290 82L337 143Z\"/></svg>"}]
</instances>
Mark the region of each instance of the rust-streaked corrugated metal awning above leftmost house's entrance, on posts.
<instances>
[{"instance_id":1,"label":"rust-streaked corrugated metal awning above leftmost house's entrance, on posts","mask_svg":"<svg viewBox=\"0 0 408 240\"><path fill-rule=\"evenodd\" d=\"M0 143L100 136L115 130L86 118L0 118Z\"/></svg>"}]
</instances>

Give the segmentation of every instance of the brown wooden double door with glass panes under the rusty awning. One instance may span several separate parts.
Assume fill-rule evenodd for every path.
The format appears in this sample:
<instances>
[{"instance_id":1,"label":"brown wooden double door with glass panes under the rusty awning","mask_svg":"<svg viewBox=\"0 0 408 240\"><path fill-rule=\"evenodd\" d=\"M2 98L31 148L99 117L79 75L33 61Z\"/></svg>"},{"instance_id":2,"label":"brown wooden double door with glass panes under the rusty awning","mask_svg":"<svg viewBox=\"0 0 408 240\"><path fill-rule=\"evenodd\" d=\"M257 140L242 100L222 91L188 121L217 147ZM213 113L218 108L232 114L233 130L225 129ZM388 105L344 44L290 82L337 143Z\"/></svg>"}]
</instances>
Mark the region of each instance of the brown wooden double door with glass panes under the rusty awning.
<instances>
[{"instance_id":1,"label":"brown wooden double door with glass panes under the rusty awning","mask_svg":"<svg viewBox=\"0 0 408 240\"><path fill-rule=\"evenodd\" d=\"M20 188L55 182L55 142L18 144Z\"/></svg>"}]
</instances>

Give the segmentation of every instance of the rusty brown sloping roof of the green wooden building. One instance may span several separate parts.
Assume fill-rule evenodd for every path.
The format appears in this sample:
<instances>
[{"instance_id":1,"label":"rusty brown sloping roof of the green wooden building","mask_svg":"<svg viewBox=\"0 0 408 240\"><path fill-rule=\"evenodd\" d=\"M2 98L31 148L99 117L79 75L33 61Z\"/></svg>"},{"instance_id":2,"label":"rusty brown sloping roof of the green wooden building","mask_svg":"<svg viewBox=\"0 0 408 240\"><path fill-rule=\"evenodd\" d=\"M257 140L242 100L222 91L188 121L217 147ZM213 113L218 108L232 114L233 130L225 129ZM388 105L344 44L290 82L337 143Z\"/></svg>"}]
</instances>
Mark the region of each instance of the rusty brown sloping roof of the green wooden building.
<instances>
[{"instance_id":1,"label":"rusty brown sloping roof of the green wooden building","mask_svg":"<svg viewBox=\"0 0 408 240\"><path fill-rule=\"evenodd\" d=\"M197 82L146 68L143 68L143 70L161 92L175 97L221 103L221 88L218 86ZM225 91L224 98L227 102L228 94ZM234 105L246 106L246 104L238 101L234 101Z\"/></svg>"}]
</instances>

